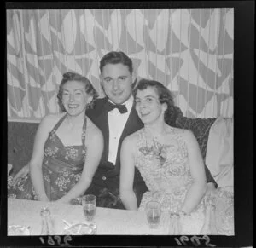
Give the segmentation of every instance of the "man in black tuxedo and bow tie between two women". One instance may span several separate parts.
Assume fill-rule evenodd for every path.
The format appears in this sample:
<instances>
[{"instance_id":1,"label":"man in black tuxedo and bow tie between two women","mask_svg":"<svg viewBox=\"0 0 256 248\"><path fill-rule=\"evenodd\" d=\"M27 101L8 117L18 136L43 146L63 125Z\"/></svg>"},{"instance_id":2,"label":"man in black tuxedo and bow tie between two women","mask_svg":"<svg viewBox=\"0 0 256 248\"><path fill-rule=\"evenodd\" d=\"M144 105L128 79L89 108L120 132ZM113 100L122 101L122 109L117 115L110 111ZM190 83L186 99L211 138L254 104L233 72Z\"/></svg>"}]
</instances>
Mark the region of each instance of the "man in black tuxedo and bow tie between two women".
<instances>
[{"instance_id":1,"label":"man in black tuxedo and bow tie between two women","mask_svg":"<svg viewBox=\"0 0 256 248\"><path fill-rule=\"evenodd\" d=\"M120 147L126 136L143 128L131 94L136 76L131 59L123 52L104 55L100 71L102 89L107 96L97 99L95 107L86 114L102 130L104 150L101 163L85 193L95 194L98 206L124 208L119 199ZM214 183L210 171L206 171L207 182ZM139 205L148 188L137 168L133 188Z\"/></svg>"}]
</instances>

